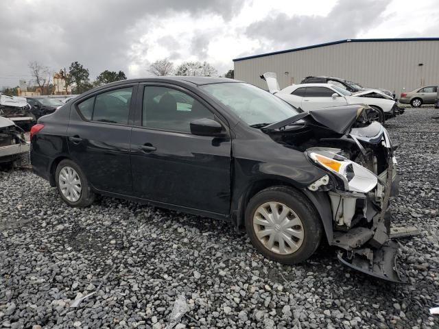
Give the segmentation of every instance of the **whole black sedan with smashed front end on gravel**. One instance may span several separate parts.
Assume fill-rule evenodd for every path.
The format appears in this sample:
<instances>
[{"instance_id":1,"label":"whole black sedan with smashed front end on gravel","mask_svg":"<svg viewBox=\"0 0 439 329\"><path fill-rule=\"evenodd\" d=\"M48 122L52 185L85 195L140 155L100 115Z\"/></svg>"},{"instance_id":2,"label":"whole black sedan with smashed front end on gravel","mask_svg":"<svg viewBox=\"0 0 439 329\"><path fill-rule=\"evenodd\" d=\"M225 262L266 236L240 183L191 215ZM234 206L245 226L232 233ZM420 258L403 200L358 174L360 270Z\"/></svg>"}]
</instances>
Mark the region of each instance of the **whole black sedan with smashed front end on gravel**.
<instances>
[{"instance_id":1,"label":"whole black sedan with smashed front end on gravel","mask_svg":"<svg viewBox=\"0 0 439 329\"><path fill-rule=\"evenodd\" d=\"M398 281L385 216L394 148L363 112L302 112L223 78L124 80L40 118L32 164L69 206L101 194L228 219L287 264L326 239L346 265Z\"/></svg>"}]
</instances>

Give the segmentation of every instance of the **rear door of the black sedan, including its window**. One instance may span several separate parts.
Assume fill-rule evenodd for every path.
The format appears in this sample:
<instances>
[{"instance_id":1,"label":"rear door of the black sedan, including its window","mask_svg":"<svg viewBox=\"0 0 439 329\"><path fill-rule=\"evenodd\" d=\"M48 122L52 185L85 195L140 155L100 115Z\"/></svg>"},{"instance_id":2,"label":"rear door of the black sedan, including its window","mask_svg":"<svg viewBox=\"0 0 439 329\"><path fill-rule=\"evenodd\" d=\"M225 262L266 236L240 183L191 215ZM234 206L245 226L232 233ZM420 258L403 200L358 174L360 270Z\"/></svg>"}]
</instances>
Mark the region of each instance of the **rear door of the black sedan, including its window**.
<instances>
[{"instance_id":1,"label":"rear door of the black sedan, including its window","mask_svg":"<svg viewBox=\"0 0 439 329\"><path fill-rule=\"evenodd\" d=\"M99 191L130 195L130 109L137 85L113 87L71 106L69 153Z\"/></svg>"}]
</instances>

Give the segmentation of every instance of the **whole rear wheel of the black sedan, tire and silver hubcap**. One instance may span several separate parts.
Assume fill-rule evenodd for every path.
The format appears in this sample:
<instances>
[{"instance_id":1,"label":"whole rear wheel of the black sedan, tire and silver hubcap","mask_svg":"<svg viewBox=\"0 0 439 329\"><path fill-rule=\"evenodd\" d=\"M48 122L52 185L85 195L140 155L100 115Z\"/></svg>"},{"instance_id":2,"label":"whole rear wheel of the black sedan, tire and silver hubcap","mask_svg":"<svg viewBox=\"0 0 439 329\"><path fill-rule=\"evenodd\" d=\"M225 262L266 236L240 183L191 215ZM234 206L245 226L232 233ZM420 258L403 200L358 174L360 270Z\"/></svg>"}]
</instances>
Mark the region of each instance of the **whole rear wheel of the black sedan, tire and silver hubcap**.
<instances>
[{"instance_id":1,"label":"whole rear wheel of the black sedan, tire and silver hubcap","mask_svg":"<svg viewBox=\"0 0 439 329\"><path fill-rule=\"evenodd\" d=\"M90 191L88 180L75 162L62 160L55 173L56 186L61 199L72 207L90 206L95 193Z\"/></svg>"}]
</instances>

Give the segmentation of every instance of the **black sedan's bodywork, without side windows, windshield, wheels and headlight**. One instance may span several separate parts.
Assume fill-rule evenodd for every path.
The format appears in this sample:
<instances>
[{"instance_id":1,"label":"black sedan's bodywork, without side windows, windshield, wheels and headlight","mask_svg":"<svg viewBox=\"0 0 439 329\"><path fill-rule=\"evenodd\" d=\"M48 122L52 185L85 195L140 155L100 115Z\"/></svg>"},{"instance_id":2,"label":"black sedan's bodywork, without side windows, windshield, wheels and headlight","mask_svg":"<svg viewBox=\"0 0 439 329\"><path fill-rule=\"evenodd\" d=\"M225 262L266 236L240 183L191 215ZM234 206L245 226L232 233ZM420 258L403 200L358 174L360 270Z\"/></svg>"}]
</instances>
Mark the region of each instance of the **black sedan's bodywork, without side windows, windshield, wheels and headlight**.
<instances>
[{"instance_id":1,"label":"black sedan's bodywork, without side windows, windshield, wheels and headlight","mask_svg":"<svg viewBox=\"0 0 439 329\"><path fill-rule=\"evenodd\" d=\"M237 227L243 225L246 204L255 193L274 185L292 186L317 210L329 244L349 253L343 258L346 263L363 255L364 248L384 245L390 230L390 221L384 216L390 186L398 182L385 129L379 123L364 121L361 105L299 112L260 129L250 127L200 88L204 84L236 83L241 82L156 77L124 80L90 90L38 120L44 128L32 138L34 171L55 186L56 166L69 158L84 171L95 192L230 219ZM127 86L133 90L127 124L88 121L80 114L78 104L82 101ZM214 115L223 133L198 136L144 127L142 103L148 86L184 91ZM350 159L367 168L380 184L388 186L386 192L378 185L373 193L342 191L347 182L311 160L309 153L316 147L336 147L335 159ZM329 182L314 185L325 177ZM397 191L396 186L392 191ZM337 198L346 203L354 200L352 216L344 223L335 216L339 211L333 208ZM356 233L357 227L362 228L361 232ZM355 241L364 241L353 244L353 239L346 236L349 232ZM372 266L370 273L374 271Z\"/></svg>"}]
</instances>

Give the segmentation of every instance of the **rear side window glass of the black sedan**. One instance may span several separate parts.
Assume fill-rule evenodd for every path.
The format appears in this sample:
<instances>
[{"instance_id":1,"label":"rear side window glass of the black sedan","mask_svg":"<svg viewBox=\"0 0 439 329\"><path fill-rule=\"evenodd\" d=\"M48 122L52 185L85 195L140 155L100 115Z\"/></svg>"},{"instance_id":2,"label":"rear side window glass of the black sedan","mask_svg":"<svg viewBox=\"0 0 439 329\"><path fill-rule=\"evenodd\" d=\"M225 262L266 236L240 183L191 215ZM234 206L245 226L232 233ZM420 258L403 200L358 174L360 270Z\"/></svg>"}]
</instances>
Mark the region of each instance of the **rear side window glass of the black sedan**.
<instances>
[{"instance_id":1,"label":"rear side window glass of the black sedan","mask_svg":"<svg viewBox=\"0 0 439 329\"><path fill-rule=\"evenodd\" d=\"M132 87L110 90L78 104L82 117L88 121L128 124Z\"/></svg>"}]
</instances>

